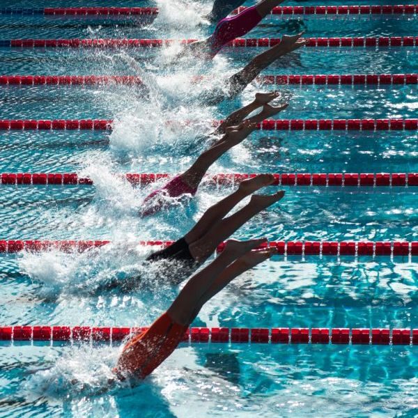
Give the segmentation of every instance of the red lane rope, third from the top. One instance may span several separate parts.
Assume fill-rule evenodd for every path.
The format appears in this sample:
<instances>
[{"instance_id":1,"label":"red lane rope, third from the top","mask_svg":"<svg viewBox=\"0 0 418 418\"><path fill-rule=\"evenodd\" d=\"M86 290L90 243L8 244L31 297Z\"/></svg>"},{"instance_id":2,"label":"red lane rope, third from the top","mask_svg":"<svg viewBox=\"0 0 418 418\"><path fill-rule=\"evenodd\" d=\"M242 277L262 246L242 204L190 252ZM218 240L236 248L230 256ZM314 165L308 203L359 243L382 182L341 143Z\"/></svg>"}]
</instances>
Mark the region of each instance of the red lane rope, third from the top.
<instances>
[{"instance_id":1,"label":"red lane rope, third from the top","mask_svg":"<svg viewBox=\"0 0 418 418\"><path fill-rule=\"evenodd\" d=\"M205 77L193 77L196 82ZM257 78L263 84L292 85L405 85L418 84L418 74L330 74L330 75L265 75ZM0 75L0 86L91 86L100 84L143 84L141 77L131 75Z\"/></svg>"}]
</instances>

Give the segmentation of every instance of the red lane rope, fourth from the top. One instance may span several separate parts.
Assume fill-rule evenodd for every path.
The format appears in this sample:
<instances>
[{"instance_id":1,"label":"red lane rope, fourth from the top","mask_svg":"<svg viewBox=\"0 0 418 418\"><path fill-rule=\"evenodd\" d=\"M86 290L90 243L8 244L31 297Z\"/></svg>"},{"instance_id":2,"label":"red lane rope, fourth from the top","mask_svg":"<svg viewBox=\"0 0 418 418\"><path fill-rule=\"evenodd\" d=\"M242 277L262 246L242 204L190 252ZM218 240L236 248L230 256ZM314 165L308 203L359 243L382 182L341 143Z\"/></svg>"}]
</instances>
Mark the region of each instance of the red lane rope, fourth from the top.
<instances>
[{"instance_id":1,"label":"red lane rope, fourth from the top","mask_svg":"<svg viewBox=\"0 0 418 418\"><path fill-rule=\"evenodd\" d=\"M222 121L213 121L217 126ZM111 119L0 119L0 130L111 130ZM170 123L170 122L167 122ZM184 123L192 123L185 121ZM418 130L417 119L266 119L258 130Z\"/></svg>"}]
</instances>

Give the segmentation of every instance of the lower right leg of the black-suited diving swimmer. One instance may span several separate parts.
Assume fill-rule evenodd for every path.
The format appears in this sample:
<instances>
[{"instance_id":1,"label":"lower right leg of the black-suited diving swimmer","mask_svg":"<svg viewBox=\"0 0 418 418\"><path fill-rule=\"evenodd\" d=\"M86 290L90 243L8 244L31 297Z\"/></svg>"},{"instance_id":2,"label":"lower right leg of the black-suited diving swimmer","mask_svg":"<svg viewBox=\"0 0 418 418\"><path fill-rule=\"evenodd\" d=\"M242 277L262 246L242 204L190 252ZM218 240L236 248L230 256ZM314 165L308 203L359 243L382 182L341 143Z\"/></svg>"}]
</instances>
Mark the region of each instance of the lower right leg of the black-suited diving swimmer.
<instances>
[{"instance_id":1,"label":"lower right leg of the black-suited diving swimmer","mask_svg":"<svg viewBox=\"0 0 418 418\"><path fill-rule=\"evenodd\" d=\"M284 191L274 193L272 195L256 195L251 196L251 200L244 208L233 213L233 215L220 220L217 224L203 235L199 240L189 245L190 254L196 261L204 261L210 254L215 251L220 242L229 238L240 226L245 224L251 217L258 212L268 208L276 203L284 196Z\"/></svg>"}]
</instances>

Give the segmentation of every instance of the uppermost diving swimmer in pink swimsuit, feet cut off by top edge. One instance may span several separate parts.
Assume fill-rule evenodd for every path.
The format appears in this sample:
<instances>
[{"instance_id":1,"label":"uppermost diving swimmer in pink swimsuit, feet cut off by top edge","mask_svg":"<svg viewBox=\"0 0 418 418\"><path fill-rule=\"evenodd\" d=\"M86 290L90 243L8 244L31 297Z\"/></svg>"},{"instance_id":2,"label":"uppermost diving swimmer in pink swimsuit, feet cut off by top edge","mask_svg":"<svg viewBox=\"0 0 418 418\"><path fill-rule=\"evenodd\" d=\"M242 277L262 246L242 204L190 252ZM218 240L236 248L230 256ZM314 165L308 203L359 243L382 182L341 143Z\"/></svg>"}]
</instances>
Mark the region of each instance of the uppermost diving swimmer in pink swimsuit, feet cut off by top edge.
<instances>
[{"instance_id":1,"label":"uppermost diving swimmer in pink swimsuit, feet cut off by top edge","mask_svg":"<svg viewBox=\"0 0 418 418\"><path fill-rule=\"evenodd\" d=\"M231 40L244 36L251 31L272 8L283 3L284 0L262 0L256 6L246 8L238 15L225 17L217 24L215 31L205 40L196 40L186 45L177 57L187 55L201 56L212 59Z\"/></svg>"}]
</instances>

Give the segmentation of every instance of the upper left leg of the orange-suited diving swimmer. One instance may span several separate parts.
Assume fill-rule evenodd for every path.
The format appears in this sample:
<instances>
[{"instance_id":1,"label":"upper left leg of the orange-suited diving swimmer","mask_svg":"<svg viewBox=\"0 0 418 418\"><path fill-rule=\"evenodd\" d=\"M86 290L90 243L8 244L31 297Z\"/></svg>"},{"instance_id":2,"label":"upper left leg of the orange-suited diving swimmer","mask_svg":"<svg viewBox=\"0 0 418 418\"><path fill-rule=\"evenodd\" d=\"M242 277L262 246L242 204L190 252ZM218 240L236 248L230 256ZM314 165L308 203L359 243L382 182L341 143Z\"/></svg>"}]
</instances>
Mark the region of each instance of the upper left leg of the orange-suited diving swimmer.
<instances>
[{"instance_id":1,"label":"upper left leg of the orange-suited diving swimmer","mask_svg":"<svg viewBox=\"0 0 418 418\"><path fill-rule=\"evenodd\" d=\"M264 239L243 242L229 241L219 257L187 281L176 300L167 310L170 318L180 325L189 325L192 318L199 312L196 312L196 309L199 308L199 302L203 295L208 292L219 274L237 258L258 247L263 242L265 242Z\"/></svg>"}]
</instances>

